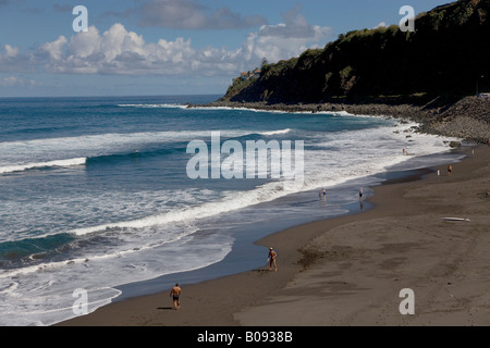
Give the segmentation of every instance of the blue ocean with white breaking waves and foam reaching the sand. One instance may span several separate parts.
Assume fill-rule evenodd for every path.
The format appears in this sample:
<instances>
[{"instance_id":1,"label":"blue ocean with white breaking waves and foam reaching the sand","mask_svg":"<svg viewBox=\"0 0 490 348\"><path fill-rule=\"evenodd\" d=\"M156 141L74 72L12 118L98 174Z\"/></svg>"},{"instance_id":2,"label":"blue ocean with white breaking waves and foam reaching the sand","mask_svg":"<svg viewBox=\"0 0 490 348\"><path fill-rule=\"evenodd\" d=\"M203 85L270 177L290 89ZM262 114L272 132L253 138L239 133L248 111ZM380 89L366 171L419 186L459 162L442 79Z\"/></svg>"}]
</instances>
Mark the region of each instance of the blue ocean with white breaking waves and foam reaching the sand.
<instances>
[{"instance_id":1,"label":"blue ocean with white breaking waves and foam reaching the sand","mask_svg":"<svg viewBox=\"0 0 490 348\"><path fill-rule=\"evenodd\" d=\"M125 284L230 254L234 272L264 265L254 240L367 209L360 187L369 196L389 173L461 158L453 139L390 117L186 108L218 97L0 99L0 325L51 325L118 300ZM218 151L302 144L304 177L289 185L267 165L247 176L238 162L243 177L212 177L232 157L212 159L213 134ZM209 149L199 177L194 142Z\"/></svg>"}]
</instances>

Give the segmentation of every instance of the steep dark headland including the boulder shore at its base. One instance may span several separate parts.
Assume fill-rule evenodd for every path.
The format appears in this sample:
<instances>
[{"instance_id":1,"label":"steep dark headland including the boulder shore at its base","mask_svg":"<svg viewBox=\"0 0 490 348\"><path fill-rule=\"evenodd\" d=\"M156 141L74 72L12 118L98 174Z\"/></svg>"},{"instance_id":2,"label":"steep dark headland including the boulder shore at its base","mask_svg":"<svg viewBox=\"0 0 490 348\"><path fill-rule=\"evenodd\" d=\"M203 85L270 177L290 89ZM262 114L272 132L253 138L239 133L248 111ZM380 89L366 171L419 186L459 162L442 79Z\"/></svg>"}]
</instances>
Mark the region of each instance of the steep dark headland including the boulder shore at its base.
<instances>
[{"instance_id":1,"label":"steep dark headland including the boulder shore at its base","mask_svg":"<svg viewBox=\"0 0 490 348\"><path fill-rule=\"evenodd\" d=\"M212 105L347 111L420 123L420 132L490 144L490 0L460 0L397 25L340 35L323 49L262 63Z\"/></svg>"}]
</instances>

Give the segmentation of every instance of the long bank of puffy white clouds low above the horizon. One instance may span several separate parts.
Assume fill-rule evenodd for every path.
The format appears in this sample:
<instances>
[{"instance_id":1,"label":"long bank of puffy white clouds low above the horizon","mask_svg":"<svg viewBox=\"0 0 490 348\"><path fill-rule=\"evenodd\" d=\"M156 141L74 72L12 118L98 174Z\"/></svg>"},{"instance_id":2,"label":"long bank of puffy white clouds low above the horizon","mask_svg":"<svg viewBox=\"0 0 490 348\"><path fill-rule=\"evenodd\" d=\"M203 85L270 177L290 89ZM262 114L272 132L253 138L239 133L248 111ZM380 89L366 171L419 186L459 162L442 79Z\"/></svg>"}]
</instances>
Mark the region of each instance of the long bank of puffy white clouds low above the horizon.
<instances>
[{"instance_id":1,"label":"long bank of puffy white clouds low above the horizon","mask_svg":"<svg viewBox=\"0 0 490 348\"><path fill-rule=\"evenodd\" d=\"M234 76L258 66L262 58L275 62L297 57L307 48L324 45L332 34L330 27L308 24L299 7L284 13L283 20L278 25L262 25L241 47L231 50L195 49L191 39L182 37L146 42L142 35L120 23L103 33L90 26L88 32L70 38L60 36L29 54L21 54L19 48L5 45L5 53L0 55L0 72Z\"/></svg>"}]
</instances>

